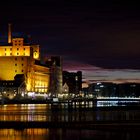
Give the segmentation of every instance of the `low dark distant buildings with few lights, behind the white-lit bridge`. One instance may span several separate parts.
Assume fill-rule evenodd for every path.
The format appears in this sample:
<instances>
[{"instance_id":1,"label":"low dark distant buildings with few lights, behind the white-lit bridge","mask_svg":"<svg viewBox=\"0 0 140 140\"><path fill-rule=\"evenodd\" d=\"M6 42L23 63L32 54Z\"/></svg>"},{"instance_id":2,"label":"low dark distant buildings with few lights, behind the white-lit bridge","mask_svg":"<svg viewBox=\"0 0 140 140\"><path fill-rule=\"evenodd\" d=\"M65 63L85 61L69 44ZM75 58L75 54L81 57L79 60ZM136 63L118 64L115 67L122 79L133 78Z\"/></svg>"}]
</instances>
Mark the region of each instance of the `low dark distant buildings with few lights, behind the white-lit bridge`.
<instances>
[{"instance_id":1,"label":"low dark distant buildings with few lights, behind the white-lit bridge","mask_svg":"<svg viewBox=\"0 0 140 140\"><path fill-rule=\"evenodd\" d=\"M88 95L97 99L101 98L138 98L140 97L140 83L91 83L88 87Z\"/></svg>"}]
</instances>

